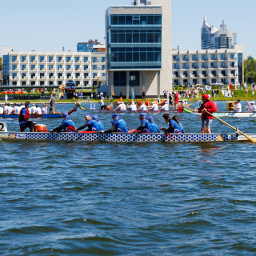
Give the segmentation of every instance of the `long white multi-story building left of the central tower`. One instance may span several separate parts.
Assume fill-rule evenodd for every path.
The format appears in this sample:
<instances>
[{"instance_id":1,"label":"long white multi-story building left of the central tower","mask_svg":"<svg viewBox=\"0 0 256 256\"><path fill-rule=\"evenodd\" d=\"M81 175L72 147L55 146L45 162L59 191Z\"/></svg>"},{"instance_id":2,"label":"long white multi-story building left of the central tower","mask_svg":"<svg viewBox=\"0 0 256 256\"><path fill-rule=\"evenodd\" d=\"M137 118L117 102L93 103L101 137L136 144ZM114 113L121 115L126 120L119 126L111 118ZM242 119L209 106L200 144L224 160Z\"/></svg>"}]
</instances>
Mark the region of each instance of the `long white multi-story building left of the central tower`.
<instances>
[{"instance_id":1,"label":"long white multi-story building left of the central tower","mask_svg":"<svg viewBox=\"0 0 256 256\"><path fill-rule=\"evenodd\" d=\"M74 80L76 86L102 86L106 82L105 46L98 52L13 51L2 47L10 86L58 86Z\"/></svg>"}]
</instances>

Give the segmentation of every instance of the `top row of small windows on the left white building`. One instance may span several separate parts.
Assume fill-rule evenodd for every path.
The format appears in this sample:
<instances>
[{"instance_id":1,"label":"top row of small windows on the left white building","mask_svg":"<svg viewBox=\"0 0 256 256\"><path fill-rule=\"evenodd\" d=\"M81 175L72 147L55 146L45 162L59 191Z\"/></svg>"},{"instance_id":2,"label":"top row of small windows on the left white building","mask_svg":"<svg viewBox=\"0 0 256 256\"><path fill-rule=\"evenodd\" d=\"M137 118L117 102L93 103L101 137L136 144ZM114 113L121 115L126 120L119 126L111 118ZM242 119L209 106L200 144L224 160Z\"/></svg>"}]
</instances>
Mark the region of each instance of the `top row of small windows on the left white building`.
<instances>
[{"instance_id":1,"label":"top row of small windows on the left white building","mask_svg":"<svg viewBox=\"0 0 256 256\"><path fill-rule=\"evenodd\" d=\"M17 61L18 56L11 56L12 62ZM58 62L63 61L63 57L57 57ZM97 57L92 57L92 62L98 62ZM46 60L45 56L39 56L39 62L44 62ZM74 57L74 62L80 62L82 60L82 57ZM22 56L22 62L26 61L26 56ZM30 56L30 62L35 62L36 61L36 56ZM66 57L66 62L72 61L72 57ZM84 57L83 62L88 62L89 57ZM106 57L102 57L102 62L106 61ZM48 62L54 62L54 56L48 57Z\"/></svg>"}]
</instances>

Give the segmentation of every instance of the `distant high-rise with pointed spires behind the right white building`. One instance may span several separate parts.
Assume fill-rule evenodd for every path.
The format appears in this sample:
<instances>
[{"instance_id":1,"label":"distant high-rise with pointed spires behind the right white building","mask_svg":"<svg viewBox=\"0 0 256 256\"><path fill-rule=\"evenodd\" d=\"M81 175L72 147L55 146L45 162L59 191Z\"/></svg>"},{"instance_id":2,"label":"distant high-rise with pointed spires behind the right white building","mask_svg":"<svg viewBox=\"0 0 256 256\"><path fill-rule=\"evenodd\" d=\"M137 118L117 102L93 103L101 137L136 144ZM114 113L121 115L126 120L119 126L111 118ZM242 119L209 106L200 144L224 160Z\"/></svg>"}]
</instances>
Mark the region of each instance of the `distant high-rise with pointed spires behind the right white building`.
<instances>
[{"instance_id":1,"label":"distant high-rise with pointed spires behind the right white building","mask_svg":"<svg viewBox=\"0 0 256 256\"><path fill-rule=\"evenodd\" d=\"M237 34L227 30L224 21L218 30L214 26L209 26L204 17L201 29L201 49L234 49L237 43Z\"/></svg>"}]
</instances>

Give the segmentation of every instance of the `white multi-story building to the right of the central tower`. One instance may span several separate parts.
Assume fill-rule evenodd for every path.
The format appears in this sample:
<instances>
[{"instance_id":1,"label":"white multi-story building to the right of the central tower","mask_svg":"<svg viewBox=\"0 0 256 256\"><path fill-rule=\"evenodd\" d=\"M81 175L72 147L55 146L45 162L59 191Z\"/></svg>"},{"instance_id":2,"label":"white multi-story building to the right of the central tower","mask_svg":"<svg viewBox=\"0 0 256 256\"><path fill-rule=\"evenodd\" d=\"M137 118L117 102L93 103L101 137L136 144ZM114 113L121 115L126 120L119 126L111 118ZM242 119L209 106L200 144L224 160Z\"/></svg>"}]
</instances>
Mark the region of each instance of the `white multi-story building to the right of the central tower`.
<instances>
[{"instance_id":1,"label":"white multi-story building to the right of the central tower","mask_svg":"<svg viewBox=\"0 0 256 256\"><path fill-rule=\"evenodd\" d=\"M243 46L220 50L173 50L173 85L244 82Z\"/></svg>"}]
</instances>

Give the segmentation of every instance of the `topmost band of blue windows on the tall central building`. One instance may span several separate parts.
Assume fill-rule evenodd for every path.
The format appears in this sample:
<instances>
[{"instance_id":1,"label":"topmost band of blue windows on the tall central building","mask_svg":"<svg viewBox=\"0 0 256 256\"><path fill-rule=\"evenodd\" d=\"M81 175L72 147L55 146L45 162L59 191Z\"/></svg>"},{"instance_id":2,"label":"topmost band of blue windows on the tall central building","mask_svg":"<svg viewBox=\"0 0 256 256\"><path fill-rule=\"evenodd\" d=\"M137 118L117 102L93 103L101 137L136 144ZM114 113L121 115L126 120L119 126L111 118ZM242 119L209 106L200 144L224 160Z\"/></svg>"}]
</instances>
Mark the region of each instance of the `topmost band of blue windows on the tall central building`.
<instances>
[{"instance_id":1,"label":"topmost band of blue windows on the tall central building","mask_svg":"<svg viewBox=\"0 0 256 256\"><path fill-rule=\"evenodd\" d=\"M129 25L162 25L162 15L159 14L138 14L138 15L130 15L130 14L111 14L109 17L110 25L119 25L119 26L129 26Z\"/></svg>"}]
</instances>

